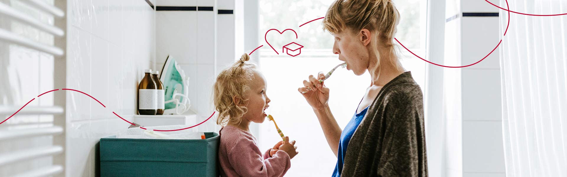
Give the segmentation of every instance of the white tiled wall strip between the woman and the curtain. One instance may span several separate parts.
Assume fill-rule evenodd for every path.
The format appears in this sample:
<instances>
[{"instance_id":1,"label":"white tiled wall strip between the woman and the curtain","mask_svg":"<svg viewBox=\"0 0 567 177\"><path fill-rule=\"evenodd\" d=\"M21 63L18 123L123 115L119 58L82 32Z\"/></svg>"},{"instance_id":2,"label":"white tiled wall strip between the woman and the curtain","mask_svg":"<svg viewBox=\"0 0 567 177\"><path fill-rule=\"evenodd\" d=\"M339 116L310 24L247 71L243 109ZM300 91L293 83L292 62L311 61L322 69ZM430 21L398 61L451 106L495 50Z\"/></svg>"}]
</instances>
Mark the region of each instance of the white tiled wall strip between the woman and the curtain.
<instances>
[{"instance_id":1,"label":"white tiled wall strip between the woman and the curtain","mask_svg":"<svg viewBox=\"0 0 567 177\"><path fill-rule=\"evenodd\" d=\"M493 2L497 3L497 2ZM445 65L462 66L484 58L501 39L498 12L484 1L447 1ZM480 63L445 69L446 176L505 176L498 50Z\"/></svg>"}]
</instances>

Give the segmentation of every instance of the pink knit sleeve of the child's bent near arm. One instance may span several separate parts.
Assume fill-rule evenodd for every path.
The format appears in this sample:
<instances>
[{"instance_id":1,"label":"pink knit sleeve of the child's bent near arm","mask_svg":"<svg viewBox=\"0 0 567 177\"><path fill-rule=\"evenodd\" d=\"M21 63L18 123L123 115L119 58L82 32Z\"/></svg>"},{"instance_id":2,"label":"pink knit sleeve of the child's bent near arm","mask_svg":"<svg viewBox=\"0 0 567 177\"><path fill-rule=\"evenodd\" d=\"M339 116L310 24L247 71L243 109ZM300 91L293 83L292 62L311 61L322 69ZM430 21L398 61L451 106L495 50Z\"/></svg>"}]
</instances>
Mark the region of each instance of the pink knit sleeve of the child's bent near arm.
<instances>
[{"instance_id":1,"label":"pink knit sleeve of the child's bent near arm","mask_svg":"<svg viewBox=\"0 0 567 177\"><path fill-rule=\"evenodd\" d=\"M269 150L262 154L253 141L240 141L232 146L229 153L230 165L240 176L284 176L291 167L289 155L283 150L278 150L270 157Z\"/></svg>"}]
</instances>

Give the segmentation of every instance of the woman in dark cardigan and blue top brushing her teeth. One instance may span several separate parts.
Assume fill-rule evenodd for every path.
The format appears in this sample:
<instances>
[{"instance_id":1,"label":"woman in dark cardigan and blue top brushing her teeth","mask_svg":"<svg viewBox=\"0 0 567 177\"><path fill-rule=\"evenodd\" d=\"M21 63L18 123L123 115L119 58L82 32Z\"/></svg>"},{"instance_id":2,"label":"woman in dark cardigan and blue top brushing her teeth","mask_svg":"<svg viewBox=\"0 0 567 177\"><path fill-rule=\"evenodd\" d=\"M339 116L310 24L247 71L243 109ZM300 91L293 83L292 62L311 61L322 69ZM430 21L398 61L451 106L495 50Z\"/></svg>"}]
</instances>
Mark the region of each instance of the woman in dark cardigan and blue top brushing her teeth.
<instances>
[{"instance_id":1,"label":"woman in dark cardigan and blue top brushing her teeth","mask_svg":"<svg viewBox=\"0 0 567 177\"><path fill-rule=\"evenodd\" d=\"M400 15L391 0L336 0L323 28L335 36L333 53L371 80L344 130L327 104L319 73L298 88L337 156L333 176L428 176L421 88L398 60L393 35Z\"/></svg>"}]
</instances>

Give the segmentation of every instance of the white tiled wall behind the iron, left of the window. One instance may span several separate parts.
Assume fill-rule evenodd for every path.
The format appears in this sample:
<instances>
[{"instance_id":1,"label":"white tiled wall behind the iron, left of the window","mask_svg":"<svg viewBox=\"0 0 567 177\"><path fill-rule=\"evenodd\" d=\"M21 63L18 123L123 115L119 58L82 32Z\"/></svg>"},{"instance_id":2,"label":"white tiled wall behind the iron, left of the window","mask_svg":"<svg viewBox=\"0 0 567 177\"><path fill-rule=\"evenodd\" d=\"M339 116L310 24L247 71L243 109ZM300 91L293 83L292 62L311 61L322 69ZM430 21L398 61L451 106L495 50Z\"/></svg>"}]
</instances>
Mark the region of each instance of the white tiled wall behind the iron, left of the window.
<instances>
[{"instance_id":1,"label":"white tiled wall behind the iron, left of the window","mask_svg":"<svg viewBox=\"0 0 567 177\"><path fill-rule=\"evenodd\" d=\"M156 11L155 68L162 69L170 55L190 77L189 99L191 109L198 115L197 123L206 120L214 112L211 96L218 72L233 64L242 54L235 56L237 51L243 50L242 35L236 35L236 15L242 10L235 8L236 2L243 3L234 0L157 2L158 8L197 7L197 10ZM213 7L213 11L200 10L198 7ZM218 14L218 10L233 10L234 14ZM242 30L238 33L242 33ZM219 127L213 118L199 125L198 131L218 131Z\"/></svg>"}]
</instances>

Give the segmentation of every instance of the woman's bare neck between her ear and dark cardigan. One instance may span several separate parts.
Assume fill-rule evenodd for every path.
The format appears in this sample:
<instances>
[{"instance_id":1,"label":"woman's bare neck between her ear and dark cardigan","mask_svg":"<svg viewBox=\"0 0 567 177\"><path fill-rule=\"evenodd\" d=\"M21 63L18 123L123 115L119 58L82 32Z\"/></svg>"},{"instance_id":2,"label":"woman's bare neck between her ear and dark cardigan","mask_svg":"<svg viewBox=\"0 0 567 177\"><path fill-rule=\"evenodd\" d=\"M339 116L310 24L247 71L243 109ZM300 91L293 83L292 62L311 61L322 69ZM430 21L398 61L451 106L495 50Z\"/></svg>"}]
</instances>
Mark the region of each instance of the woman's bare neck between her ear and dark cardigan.
<instances>
[{"instance_id":1,"label":"woman's bare neck between her ear and dark cardigan","mask_svg":"<svg viewBox=\"0 0 567 177\"><path fill-rule=\"evenodd\" d=\"M388 82L392 81L394 78L396 78L398 75L404 73L404 69L400 69L397 66L395 66L394 64L392 64L392 60L395 60L397 62L397 56L390 55L390 51L387 50L383 50L380 51L380 53L383 53L380 55L380 66L378 66L378 68L376 68L376 70L373 70L376 67L376 64L378 64L377 62L371 62L369 64L368 67L368 71L370 73L370 78L371 78L371 85L376 85L376 86L384 86L386 85ZM392 58L392 57L396 57L396 58ZM375 60L371 60L371 61L376 61Z\"/></svg>"}]
</instances>

